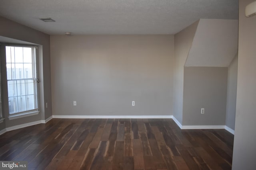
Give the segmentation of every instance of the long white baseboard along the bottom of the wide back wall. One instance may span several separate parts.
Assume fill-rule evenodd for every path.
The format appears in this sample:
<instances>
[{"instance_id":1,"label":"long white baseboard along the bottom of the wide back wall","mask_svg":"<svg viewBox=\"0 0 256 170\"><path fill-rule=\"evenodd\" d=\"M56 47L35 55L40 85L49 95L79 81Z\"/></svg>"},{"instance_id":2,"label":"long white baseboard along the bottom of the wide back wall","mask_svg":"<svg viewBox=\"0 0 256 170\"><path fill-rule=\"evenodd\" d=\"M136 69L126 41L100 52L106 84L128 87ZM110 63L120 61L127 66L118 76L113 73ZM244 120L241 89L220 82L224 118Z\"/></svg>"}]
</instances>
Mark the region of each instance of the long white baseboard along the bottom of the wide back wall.
<instances>
[{"instance_id":1,"label":"long white baseboard along the bottom of the wide back wall","mask_svg":"<svg viewBox=\"0 0 256 170\"><path fill-rule=\"evenodd\" d=\"M172 119L172 115L52 115L57 119Z\"/></svg>"}]
</instances>

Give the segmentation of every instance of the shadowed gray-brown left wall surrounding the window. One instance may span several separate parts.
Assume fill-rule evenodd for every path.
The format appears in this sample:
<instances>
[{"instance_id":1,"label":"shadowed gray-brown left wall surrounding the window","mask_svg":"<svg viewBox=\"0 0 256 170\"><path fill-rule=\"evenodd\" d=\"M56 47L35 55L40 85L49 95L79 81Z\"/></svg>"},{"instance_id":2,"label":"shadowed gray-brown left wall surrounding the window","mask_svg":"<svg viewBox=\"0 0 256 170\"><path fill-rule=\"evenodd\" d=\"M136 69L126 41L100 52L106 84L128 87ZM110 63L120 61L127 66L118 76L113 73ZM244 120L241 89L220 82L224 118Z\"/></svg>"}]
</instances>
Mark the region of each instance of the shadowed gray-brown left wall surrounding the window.
<instances>
[{"instance_id":1,"label":"shadowed gray-brown left wall surrounding the window","mask_svg":"<svg viewBox=\"0 0 256 170\"><path fill-rule=\"evenodd\" d=\"M38 45L42 45L43 50L41 53L43 54L42 62L40 70L43 71L43 79L41 78L40 86L43 87L43 98L41 111L43 114L24 117L15 120L9 120L8 110L4 109L5 115L5 124L6 127L11 127L23 123L29 123L32 121L38 121L41 119L47 119L52 115L52 98L51 98L51 74L50 74L50 36L32 29L30 27L26 27L14 21L8 20L6 18L0 17L0 36L9 37L12 39L22 40L30 43L35 43ZM4 94L4 98L7 98L7 93ZM48 102L48 108L44 107L44 102ZM8 104L7 104L8 105Z\"/></svg>"}]
</instances>

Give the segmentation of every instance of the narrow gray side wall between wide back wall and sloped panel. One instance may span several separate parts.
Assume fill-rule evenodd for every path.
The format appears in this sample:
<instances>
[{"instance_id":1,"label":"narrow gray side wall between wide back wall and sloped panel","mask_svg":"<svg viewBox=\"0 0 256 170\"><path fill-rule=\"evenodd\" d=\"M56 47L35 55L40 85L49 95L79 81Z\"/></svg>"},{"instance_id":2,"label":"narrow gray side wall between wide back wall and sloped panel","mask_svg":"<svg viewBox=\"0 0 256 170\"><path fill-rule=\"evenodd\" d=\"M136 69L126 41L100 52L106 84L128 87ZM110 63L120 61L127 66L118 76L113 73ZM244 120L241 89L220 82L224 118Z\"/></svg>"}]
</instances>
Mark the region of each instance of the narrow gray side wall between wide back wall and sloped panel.
<instances>
[{"instance_id":1,"label":"narrow gray side wall between wide back wall and sloped panel","mask_svg":"<svg viewBox=\"0 0 256 170\"><path fill-rule=\"evenodd\" d=\"M184 64L188 57L198 22L199 20L174 35L173 115L180 123L182 123L183 112Z\"/></svg>"}]
</instances>

